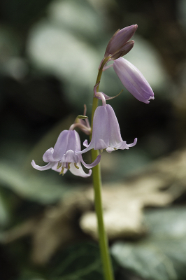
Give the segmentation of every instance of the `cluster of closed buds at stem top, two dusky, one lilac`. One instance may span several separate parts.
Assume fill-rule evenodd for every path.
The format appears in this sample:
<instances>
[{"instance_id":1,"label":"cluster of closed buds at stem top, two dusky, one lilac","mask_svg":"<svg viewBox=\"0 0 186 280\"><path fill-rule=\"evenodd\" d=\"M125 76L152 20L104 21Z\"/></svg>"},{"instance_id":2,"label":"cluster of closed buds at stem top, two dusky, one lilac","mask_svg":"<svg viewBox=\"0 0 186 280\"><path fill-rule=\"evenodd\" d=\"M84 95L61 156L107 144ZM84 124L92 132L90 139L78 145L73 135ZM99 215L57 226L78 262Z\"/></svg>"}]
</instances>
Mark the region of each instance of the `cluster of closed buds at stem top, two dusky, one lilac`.
<instances>
[{"instance_id":1,"label":"cluster of closed buds at stem top, two dusky, one lilac","mask_svg":"<svg viewBox=\"0 0 186 280\"><path fill-rule=\"evenodd\" d=\"M101 64L105 63L103 65L103 71L113 66L115 73L120 78L124 87L126 87L136 99L148 104L150 99L154 99L152 88L142 73L133 64L122 57L134 47L134 41L128 40L134 35L137 27L138 25L131 25L115 32L108 42ZM106 58L108 58L108 60L105 62ZM113 61L113 63L107 65L110 61ZM101 64L99 69L101 68Z\"/></svg>"}]
</instances>

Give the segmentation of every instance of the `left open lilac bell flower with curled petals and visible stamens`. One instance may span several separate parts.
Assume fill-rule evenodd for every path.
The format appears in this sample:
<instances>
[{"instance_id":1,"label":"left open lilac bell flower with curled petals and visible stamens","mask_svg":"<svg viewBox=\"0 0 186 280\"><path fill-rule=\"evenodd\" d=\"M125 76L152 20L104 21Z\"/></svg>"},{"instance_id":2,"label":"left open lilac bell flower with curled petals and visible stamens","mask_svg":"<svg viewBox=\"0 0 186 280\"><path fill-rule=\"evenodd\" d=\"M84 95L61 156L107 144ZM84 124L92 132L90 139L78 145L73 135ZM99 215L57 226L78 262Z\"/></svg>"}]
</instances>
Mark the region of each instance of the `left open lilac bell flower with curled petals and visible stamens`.
<instances>
[{"instance_id":1,"label":"left open lilac bell flower with curled petals and visible stamens","mask_svg":"<svg viewBox=\"0 0 186 280\"><path fill-rule=\"evenodd\" d=\"M32 160L31 165L40 171L53 169L60 174L65 174L69 169L74 175L81 177L88 177L92 174L92 170L86 174L81 166L83 165L90 169L99 164L101 160L101 155L98 155L96 160L92 162L91 165L87 165L82 158L80 153L80 137L76 130L64 130L59 134L57 142L54 148L48 149L43 155L43 161L48 162L48 165L43 167L36 165L34 160Z\"/></svg>"}]
</instances>

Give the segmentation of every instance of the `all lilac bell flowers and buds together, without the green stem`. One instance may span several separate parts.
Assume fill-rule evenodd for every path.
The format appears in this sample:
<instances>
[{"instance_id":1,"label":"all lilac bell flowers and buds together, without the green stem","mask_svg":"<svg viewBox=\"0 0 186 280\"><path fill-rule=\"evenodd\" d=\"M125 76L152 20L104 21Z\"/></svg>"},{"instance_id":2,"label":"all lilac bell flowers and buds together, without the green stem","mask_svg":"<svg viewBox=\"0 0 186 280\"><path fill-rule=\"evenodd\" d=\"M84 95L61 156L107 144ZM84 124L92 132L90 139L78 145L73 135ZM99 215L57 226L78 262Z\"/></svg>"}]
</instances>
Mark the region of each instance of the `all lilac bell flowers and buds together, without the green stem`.
<instances>
[{"instance_id":1,"label":"all lilac bell flowers and buds together, without the green stem","mask_svg":"<svg viewBox=\"0 0 186 280\"><path fill-rule=\"evenodd\" d=\"M108 42L106 52L103 60L99 66L99 71L105 71L108 67L113 66L113 69L117 76L120 78L124 87L127 88L131 94L141 102L149 103L150 99L154 99L154 93L152 88L148 84L147 80L143 77L142 73L130 62L124 59L122 56L126 55L134 47L134 41L129 39L134 35L137 25L131 25L118 30ZM107 62L112 60L113 64L106 66ZM49 148L43 155L43 161L48 164L40 167L36 165L34 160L31 165L40 171L53 169L59 174L65 174L69 169L70 172L76 176L88 177L92 174L92 167L99 164L101 155L98 155L96 160L90 165L86 164L83 160L83 153L94 150L106 150L111 153L115 150L129 149L136 145L137 139L134 142L127 144L122 140L120 133L120 126L115 116L113 108L106 104L106 100L114 97L108 97L103 92L98 91L99 83L94 86L94 98L101 99L102 105L98 106L94 111L92 129L87 120L86 108L84 116L78 116L76 121L69 130L64 130L59 134L57 142L54 148ZM74 130L78 127L85 134L92 134L90 144L85 140L83 145L85 149L81 151L80 137L78 132ZM85 173L81 163L87 169L90 169L88 173Z\"/></svg>"}]
</instances>

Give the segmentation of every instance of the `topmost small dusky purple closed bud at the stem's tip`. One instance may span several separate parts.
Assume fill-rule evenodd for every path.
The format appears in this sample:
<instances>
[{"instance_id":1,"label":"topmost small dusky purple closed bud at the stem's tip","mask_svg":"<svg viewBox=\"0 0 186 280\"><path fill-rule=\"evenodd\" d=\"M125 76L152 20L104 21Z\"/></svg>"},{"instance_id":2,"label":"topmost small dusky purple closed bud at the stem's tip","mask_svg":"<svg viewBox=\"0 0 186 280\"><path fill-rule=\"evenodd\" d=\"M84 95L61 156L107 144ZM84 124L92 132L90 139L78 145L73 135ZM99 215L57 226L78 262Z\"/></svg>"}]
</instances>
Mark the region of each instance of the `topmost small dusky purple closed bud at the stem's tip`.
<instances>
[{"instance_id":1,"label":"topmost small dusky purple closed bud at the stem's tip","mask_svg":"<svg viewBox=\"0 0 186 280\"><path fill-rule=\"evenodd\" d=\"M109 55L114 55L116 52L119 52L124 47L124 44L127 43L127 41L129 41L129 39L134 35L137 28L138 25L130 25L129 27L117 30L108 42L104 57L108 57Z\"/></svg>"}]
</instances>

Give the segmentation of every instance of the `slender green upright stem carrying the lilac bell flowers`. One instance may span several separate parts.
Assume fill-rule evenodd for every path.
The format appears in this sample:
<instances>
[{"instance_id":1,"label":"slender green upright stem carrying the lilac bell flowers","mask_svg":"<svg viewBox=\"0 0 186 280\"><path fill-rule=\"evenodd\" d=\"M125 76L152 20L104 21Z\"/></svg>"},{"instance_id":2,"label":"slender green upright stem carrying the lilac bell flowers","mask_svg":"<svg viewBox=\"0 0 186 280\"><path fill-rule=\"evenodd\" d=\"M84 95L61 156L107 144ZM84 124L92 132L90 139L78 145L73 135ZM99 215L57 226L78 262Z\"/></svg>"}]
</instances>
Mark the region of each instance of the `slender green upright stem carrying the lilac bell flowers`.
<instances>
[{"instance_id":1,"label":"slender green upright stem carrying the lilac bell flowers","mask_svg":"<svg viewBox=\"0 0 186 280\"><path fill-rule=\"evenodd\" d=\"M103 60L103 63L101 64L101 67L98 72L98 76L96 79L96 83L99 83L101 80L101 74L103 71L103 66L108 61L109 57ZM99 90L99 86L97 87L97 91ZM94 111L96 110L96 107L98 106L98 99L93 98L93 104L92 104L92 125L93 125L93 117L94 117ZM90 136L91 139L92 135ZM96 157L99 155L98 150L92 149L92 161L96 159ZM99 232L99 247L101 251L101 259L103 262L103 272L105 280L114 280L113 276L113 267L110 260L110 255L108 251L108 239L106 236L106 231L103 223L103 206L102 206L102 199L101 199L101 165L96 165L92 169L92 176L93 176L93 185L94 185L94 204L96 209L96 217L98 222L98 232Z\"/></svg>"}]
</instances>

